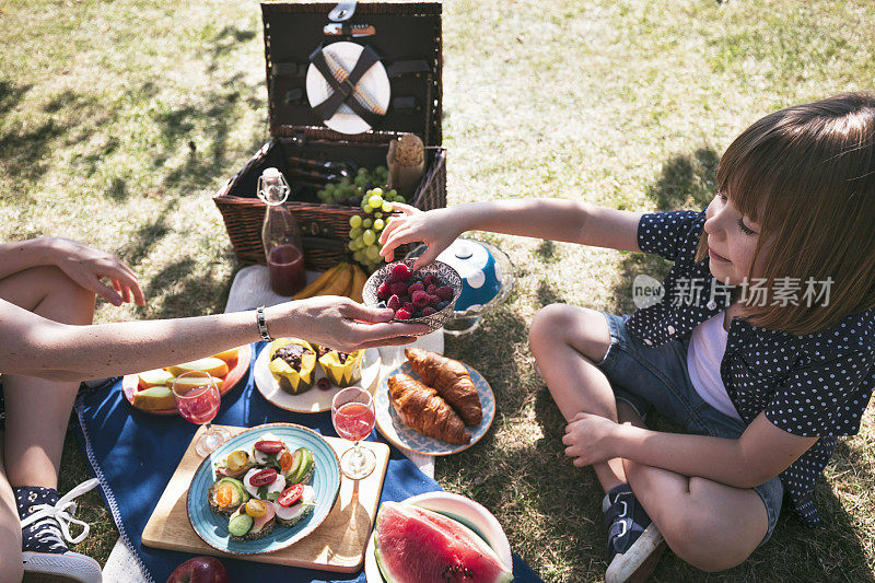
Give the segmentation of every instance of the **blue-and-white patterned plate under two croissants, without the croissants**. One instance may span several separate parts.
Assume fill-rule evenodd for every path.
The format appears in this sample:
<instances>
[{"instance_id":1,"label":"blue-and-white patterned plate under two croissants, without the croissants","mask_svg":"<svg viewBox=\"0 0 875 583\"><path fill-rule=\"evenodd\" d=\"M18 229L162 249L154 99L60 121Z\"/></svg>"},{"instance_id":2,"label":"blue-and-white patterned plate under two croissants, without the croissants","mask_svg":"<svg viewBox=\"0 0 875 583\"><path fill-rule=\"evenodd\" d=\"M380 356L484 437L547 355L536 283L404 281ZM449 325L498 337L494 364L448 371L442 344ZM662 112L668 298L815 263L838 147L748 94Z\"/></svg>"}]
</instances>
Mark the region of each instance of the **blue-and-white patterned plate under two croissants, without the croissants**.
<instances>
[{"instance_id":1,"label":"blue-and-white patterned plate under two croissants, without the croissants","mask_svg":"<svg viewBox=\"0 0 875 583\"><path fill-rule=\"evenodd\" d=\"M376 393L374 394L374 411L376 412L376 427L380 432L383 433L383 436L399 447L407 447L408 450L424 455L456 454L480 441L483 435L486 435L486 432L489 431L492 419L495 417L495 396L492 394L492 387L489 386L483 375L464 362L462 364L465 365L468 370L468 374L471 375L474 386L477 387L477 394L480 396L480 406L483 408L483 419L480 421L480 424L465 428L466 431L471 434L470 443L455 445L434 438L429 438L419 431L408 428L401 422L401 419L395 411L395 406L392 405L392 399L389 399L388 378L394 374L404 373L419 381L419 375L413 372L413 369L408 362L389 371L380 380L380 384L376 387Z\"/></svg>"}]
</instances>

